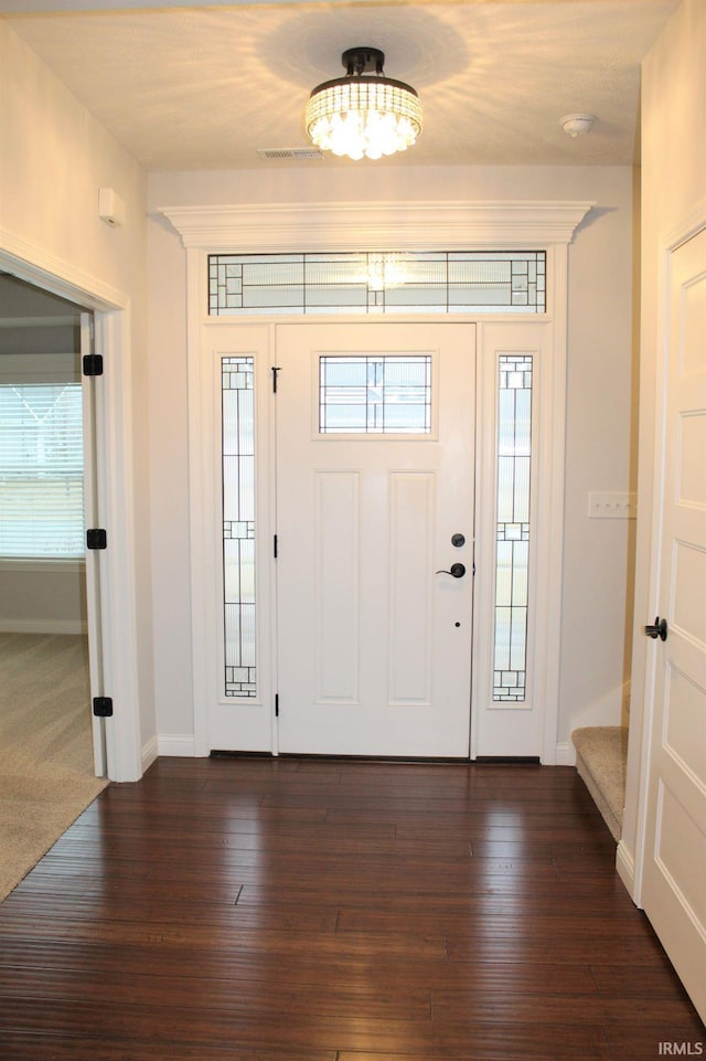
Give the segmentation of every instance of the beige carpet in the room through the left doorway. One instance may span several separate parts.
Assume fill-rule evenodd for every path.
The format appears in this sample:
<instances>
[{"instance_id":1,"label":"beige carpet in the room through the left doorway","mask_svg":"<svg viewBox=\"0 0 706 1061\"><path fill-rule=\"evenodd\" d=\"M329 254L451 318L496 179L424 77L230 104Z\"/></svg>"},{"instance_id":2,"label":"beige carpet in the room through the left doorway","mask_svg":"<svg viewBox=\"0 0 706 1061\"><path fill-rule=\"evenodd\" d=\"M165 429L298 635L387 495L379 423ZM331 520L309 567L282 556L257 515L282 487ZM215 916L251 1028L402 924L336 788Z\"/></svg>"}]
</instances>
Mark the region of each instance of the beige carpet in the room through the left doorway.
<instances>
[{"instance_id":1,"label":"beige carpet in the room through the left doorway","mask_svg":"<svg viewBox=\"0 0 706 1061\"><path fill-rule=\"evenodd\" d=\"M101 792L81 636L0 634L0 901Z\"/></svg>"}]
</instances>

